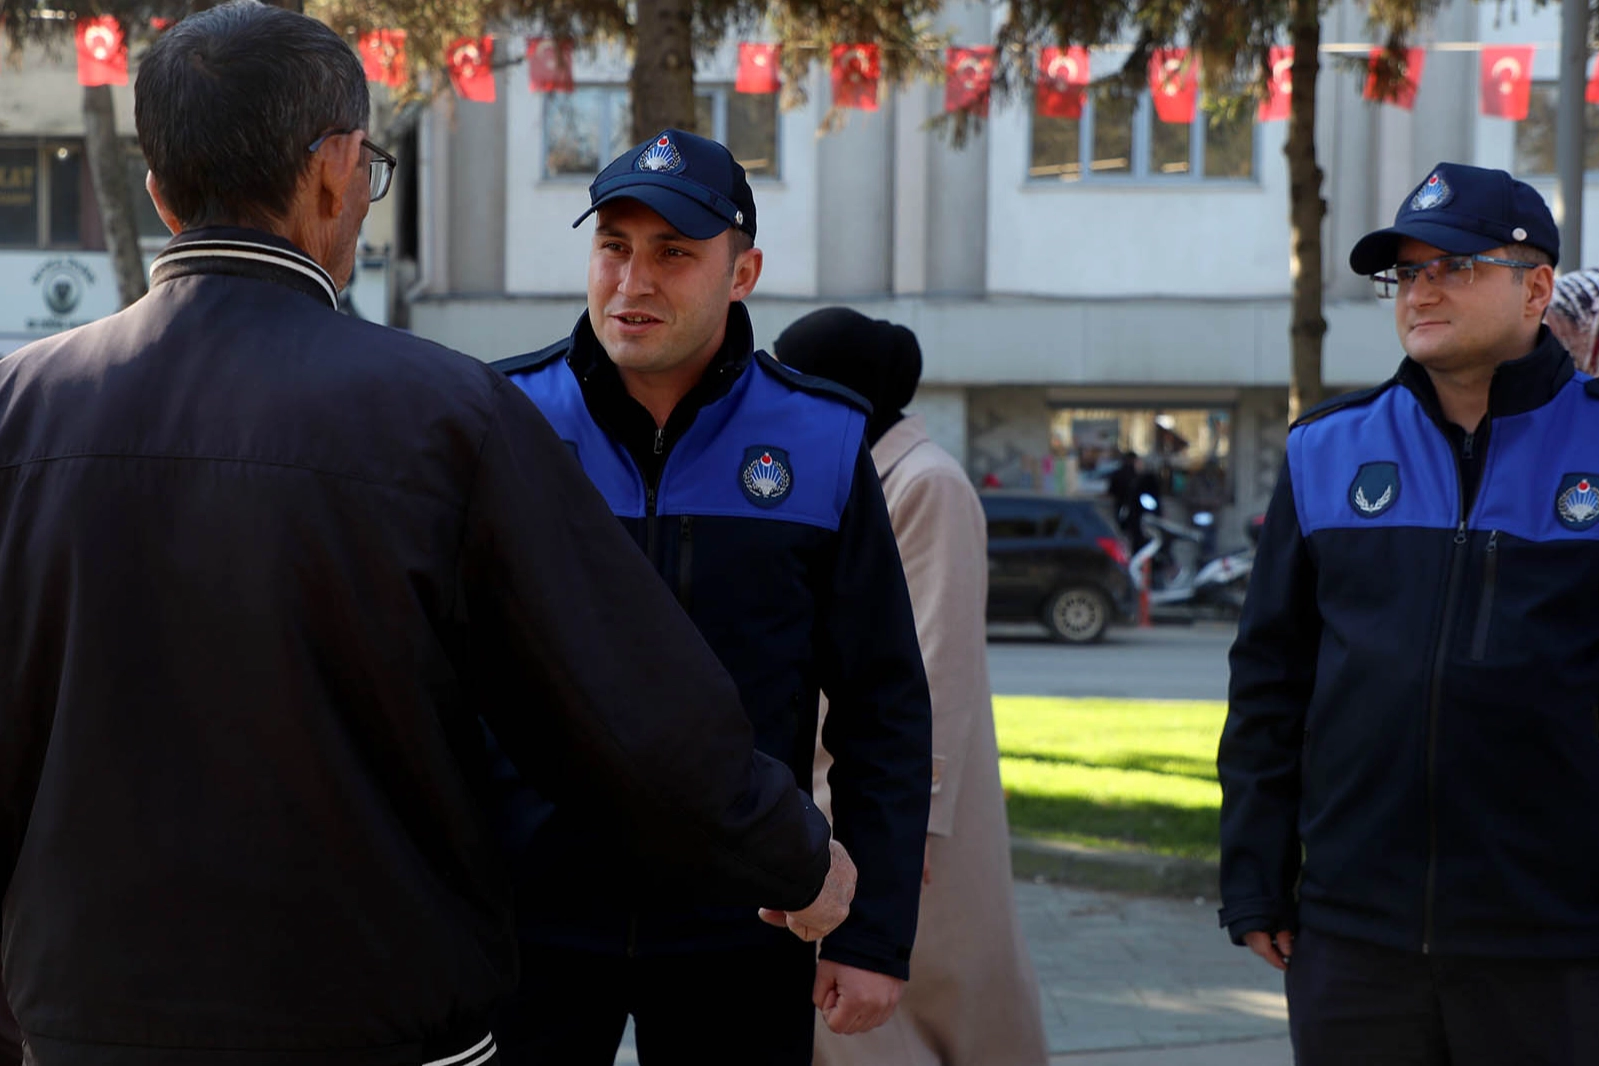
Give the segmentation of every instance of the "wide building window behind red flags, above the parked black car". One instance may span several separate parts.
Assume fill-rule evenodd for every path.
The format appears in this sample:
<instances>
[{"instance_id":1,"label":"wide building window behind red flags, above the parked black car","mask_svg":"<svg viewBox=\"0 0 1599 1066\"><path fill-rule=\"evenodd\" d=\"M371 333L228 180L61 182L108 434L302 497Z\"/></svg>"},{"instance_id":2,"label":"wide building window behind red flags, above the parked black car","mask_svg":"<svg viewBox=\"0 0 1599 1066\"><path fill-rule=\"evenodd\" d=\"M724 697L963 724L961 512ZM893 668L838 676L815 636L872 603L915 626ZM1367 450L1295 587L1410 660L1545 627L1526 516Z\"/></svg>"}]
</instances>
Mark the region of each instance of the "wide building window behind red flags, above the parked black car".
<instances>
[{"instance_id":1,"label":"wide building window behind red flags, above the parked black car","mask_svg":"<svg viewBox=\"0 0 1599 1066\"><path fill-rule=\"evenodd\" d=\"M1247 109L1190 123L1154 117L1148 93L1084 101L1081 118L1033 115L1031 181L1202 181L1255 174L1255 123Z\"/></svg>"}]
</instances>

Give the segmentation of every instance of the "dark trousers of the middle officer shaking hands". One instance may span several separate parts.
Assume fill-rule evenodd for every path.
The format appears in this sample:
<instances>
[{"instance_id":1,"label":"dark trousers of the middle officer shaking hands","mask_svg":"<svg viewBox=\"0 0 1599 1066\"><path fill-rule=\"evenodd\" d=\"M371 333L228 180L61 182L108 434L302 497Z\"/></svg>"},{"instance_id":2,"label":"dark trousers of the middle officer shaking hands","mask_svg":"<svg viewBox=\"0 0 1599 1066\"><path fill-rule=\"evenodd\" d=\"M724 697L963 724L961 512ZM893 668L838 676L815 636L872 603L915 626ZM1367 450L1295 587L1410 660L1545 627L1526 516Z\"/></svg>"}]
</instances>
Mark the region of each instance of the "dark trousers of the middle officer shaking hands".
<instances>
[{"instance_id":1,"label":"dark trousers of the middle officer shaking hands","mask_svg":"<svg viewBox=\"0 0 1599 1066\"><path fill-rule=\"evenodd\" d=\"M640 1066L811 1066L815 948L624 956L523 945L494 1026L507 1066L611 1066L627 1016Z\"/></svg>"}]
</instances>

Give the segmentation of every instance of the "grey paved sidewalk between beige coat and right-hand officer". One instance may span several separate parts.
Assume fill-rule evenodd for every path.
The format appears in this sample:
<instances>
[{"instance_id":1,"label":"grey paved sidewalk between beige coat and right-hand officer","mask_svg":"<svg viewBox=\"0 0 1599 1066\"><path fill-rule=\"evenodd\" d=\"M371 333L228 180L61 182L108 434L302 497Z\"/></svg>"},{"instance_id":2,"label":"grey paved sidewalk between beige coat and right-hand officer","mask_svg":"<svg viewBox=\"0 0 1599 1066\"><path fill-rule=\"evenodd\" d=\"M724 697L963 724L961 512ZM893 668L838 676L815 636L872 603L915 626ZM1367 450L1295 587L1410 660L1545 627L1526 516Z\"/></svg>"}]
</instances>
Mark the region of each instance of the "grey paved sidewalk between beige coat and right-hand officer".
<instances>
[{"instance_id":1,"label":"grey paved sidewalk between beige coat and right-hand officer","mask_svg":"<svg viewBox=\"0 0 1599 1066\"><path fill-rule=\"evenodd\" d=\"M1051 1066L1290 1066L1281 975L1217 927L1214 897L1017 881ZM633 1066L633 1034L617 1055Z\"/></svg>"}]
</instances>

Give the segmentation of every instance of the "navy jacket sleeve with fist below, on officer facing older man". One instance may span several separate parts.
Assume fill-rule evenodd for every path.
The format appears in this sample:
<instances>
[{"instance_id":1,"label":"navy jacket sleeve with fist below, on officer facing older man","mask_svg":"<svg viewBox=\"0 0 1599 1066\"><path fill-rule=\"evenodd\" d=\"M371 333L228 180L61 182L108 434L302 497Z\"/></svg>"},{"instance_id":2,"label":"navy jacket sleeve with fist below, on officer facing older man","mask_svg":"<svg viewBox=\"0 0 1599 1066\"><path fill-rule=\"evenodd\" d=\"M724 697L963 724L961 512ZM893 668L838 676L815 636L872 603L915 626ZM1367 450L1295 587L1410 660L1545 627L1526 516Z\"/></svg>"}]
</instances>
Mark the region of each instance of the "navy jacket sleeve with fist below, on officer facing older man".
<instances>
[{"instance_id":1,"label":"navy jacket sleeve with fist below, on officer facing older man","mask_svg":"<svg viewBox=\"0 0 1599 1066\"><path fill-rule=\"evenodd\" d=\"M905 572L865 447L819 604L833 825L860 871L849 917L822 941L822 957L905 978L921 903L932 726Z\"/></svg>"}]
</instances>

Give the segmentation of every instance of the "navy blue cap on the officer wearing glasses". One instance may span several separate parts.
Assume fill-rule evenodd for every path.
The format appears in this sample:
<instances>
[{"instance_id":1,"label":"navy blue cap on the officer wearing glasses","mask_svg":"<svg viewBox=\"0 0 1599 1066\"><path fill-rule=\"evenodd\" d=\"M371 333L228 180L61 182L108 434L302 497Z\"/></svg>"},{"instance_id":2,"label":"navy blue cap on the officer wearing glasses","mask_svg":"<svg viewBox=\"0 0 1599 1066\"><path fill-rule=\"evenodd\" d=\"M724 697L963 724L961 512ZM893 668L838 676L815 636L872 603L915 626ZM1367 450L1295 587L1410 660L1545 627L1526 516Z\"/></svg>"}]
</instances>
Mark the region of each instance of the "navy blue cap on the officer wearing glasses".
<instances>
[{"instance_id":1,"label":"navy blue cap on the officer wearing glasses","mask_svg":"<svg viewBox=\"0 0 1599 1066\"><path fill-rule=\"evenodd\" d=\"M1386 230L1367 233L1350 251L1354 273L1378 273L1399 259L1406 237L1450 256L1474 256L1503 245L1532 245L1561 257L1561 230L1549 205L1527 182L1505 171L1439 163L1410 190Z\"/></svg>"}]
</instances>

